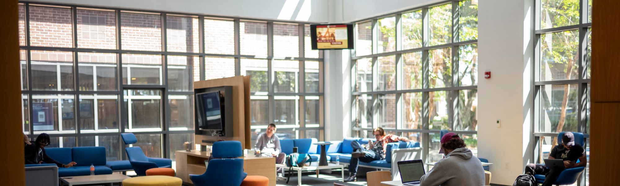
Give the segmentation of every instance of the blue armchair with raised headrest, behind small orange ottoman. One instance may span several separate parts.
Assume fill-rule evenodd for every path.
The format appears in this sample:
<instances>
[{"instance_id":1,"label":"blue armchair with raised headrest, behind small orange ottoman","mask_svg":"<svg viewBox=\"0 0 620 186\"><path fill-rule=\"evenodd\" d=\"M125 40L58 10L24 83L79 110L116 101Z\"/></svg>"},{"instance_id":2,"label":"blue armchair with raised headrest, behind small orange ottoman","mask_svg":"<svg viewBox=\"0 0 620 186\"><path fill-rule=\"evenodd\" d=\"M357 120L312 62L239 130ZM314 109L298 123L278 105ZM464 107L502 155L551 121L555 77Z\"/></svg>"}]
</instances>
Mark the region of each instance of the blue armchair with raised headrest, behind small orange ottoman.
<instances>
[{"instance_id":1,"label":"blue armchair with raised headrest, behind small orange ottoman","mask_svg":"<svg viewBox=\"0 0 620 186\"><path fill-rule=\"evenodd\" d=\"M123 137L123 141L125 144L134 144L138 142L133 133L122 133L120 134ZM154 157L146 157L142 148L139 146L128 147L125 148L127 153L127 157L129 158L129 162L133 170L136 172L136 175L146 175L146 170L157 168L157 167L172 167L172 160L165 158L154 158Z\"/></svg>"}]
</instances>

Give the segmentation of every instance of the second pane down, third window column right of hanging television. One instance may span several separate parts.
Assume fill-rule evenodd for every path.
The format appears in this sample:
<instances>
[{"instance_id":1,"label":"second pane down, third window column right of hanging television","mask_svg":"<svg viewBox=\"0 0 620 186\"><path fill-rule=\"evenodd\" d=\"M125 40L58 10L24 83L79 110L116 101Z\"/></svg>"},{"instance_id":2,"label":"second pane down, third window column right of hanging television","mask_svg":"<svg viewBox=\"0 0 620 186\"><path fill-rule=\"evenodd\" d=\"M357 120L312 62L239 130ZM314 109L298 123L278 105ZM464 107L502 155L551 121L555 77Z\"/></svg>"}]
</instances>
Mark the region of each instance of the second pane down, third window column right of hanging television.
<instances>
[{"instance_id":1,"label":"second pane down, third window column right of hanging television","mask_svg":"<svg viewBox=\"0 0 620 186\"><path fill-rule=\"evenodd\" d=\"M402 89L422 89L422 52L402 54Z\"/></svg>"}]
</instances>

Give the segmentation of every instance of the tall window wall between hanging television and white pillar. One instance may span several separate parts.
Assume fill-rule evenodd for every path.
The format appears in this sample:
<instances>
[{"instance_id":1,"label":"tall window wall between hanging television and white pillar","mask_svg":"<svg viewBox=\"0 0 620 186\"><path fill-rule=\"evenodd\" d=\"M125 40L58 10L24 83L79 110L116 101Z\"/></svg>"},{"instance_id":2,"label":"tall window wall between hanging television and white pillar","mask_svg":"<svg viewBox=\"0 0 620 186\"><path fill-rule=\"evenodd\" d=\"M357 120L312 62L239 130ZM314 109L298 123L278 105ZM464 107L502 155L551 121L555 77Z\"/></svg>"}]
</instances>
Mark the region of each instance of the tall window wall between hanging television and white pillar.
<instances>
[{"instance_id":1,"label":"tall window wall between hanging television and white pillar","mask_svg":"<svg viewBox=\"0 0 620 186\"><path fill-rule=\"evenodd\" d=\"M420 142L441 159L440 130L477 154L477 1L445 1L355 24L352 130Z\"/></svg>"}]
</instances>

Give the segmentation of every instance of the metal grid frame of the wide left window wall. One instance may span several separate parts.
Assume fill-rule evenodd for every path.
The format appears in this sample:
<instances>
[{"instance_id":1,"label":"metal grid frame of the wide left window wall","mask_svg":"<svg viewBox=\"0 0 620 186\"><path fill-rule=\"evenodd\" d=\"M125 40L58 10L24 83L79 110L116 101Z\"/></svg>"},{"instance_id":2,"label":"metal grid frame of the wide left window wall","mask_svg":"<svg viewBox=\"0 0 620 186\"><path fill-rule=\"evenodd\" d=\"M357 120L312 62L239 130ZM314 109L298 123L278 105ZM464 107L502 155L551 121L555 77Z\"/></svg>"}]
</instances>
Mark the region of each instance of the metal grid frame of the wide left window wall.
<instances>
[{"instance_id":1,"label":"metal grid frame of the wide left window wall","mask_svg":"<svg viewBox=\"0 0 620 186\"><path fill-rule=\"evenodd\" d=\"M125 90L130 90L130 89L154 89L154 90L159 90L161 91L161 119L162 119L162 123L161 123L161 131L144 131L144 132L135 132L136 135L150 135L150 134L158 134L161 135L161 153L163 157L170 157L172 156L172 153L174 153L174 151L172 151L172 149L170 149L170 147L172 146L172 144L170 144L170 135L175 135L175 134L193 134L194 131L193 130L185 130L185 131L177 131L177 130L172 130L170 131L170 114L171 114L171 110L169 107L169 99L168 99L168 95L193 95L193 91L170 91L169 90L169 84L168 84L168 68L167 68L167 56L171 56L171 55L176 55L176 56L198 56L199 59L199 65L200 65L200 79L204 80L206 79L206 74L205 74L205 57L208 56L215 56L215 57L229 57L229 58L234 58L234 63L235 63L235 75L239 76L241 75L241 58L253 58L253 59L264 59L268 61L268 76L270 77L269 82L272 82L273 79L271 78L272 75L272 66L271 66L271 61L274 59L278 59L278 60L295 60L295 61L299 61L299 84L298 84L298 92L295 93L278 93L278 92L273 92L273 84L270 83L269 86L269 92L268 92L268 98L269 98L269 105L270 105L270 110L269 112L269 119L270 121L273 121L273 114L275 112L275 108L274 108L274 101L275 99L273 98L274 96L278 96L278 95L296 95L299 96L299 99L297 100L299 108L297 108L299 110L298 113L298 118L299 120L301 120L300 122L300 126L299 128L293 128L293 130L295 131L299 131L298 136L304 136L305 135L305 131L306 130L319 130L319 136L320 139L322 140L324 139L324 99L323 99L323 82L324 82L324 60L323 60L323 53L322 51L319 52L319 58L305 58L304 55L304 51L305 51L305 46L304 46L304 28L306 25L311 24L312 22L298 22L298 21L288 21L288 20L265 20L265 19L252 19L252 18L239 18L239 17L226 17L226 16L220 16L220 15L209 15L209 14L185 14L185 13L179 13L179 12L166 12L166 11L149 11L149 10L139 10L139 9L123 9L123 8L118 8L118 7L94 7L94 6L80 6L80 5L69 5L69 4L60 4L60 3L48 3L48 2L32 2L32 1L19 1L20 4L24 5L24 11L25 11L25 35L26 35L26 44L24 46L20 46L20 50L24 50L26 52L26 61L27 61L27 86L28 89L27 90L23 90L22 94L27 95L27 102L29 104L28 107L28 112L26 113L29 115L30 120L32 120L32 95L34 94L71 94L74 96L74 115L76 115L76 117L74 117L74 124L76 125L76 132L75 133L55 133L55 134L50 134L51 137L74 137L76 139L76 144L73 144L74 146L78 146L79 144L79 140L82 136L118 136L118 138L120 139L120 133L125 133L125 123L126 121L128 121L128 116L127 116L127 112L128 110L125 109L125 97L123 94L123 91ZM42 5L42 6L63 6L66 8L71 9L71 26L72 26L72 43L73 43L73 47L71 48L66 48L66 47L34 47L30 45L30 4L33 5ZM79 48L78 47L78 24L77 24L77 9L81 9L81 8L92 8L92 9L106 9L106 10L110 10L113 11L115 14L115 41L116 41L116 49L96 49L96 48ZM139 50L123 50L122 48L122 32L121 32L121 28L122 28L122 19L121 19L121 13L122 12L131 12L131 13L155 13L155 14L159 14L159 17L161 19L161 43L162 43L162 50L161 51L139 51ZM193 52L172 52L172 51L167 51L167 15L170 14L170 16L188 16L188 17L192 17L192 18L197 18L198 19L198 38L200 42L198 44L199 46L199 52L198 53L193 53ZM216 18L216 19L226 19L226 20L232 20L234 22L234 55L221 55L221 54L212 54L212 53L206 53L205 52L205 19L206 18ZM241 54L241 37L240 37L240 22L241 21L260 21L260 22L267 22L268 25L268 55L267 56L252 56L252 55L242 55ZM299 56L298 57L274 57L273 56L273 22L278 22L278 23L286 23L286 24L295 24L295 25L299 25ZM30 63L30 51L32 50L47 50L47 51L71 51L73 52L73 81L74 81L74 90L73 91L32 91L32 71L31 71L31 63ZM79 69L78 69L78 64L79 64L79 60L78 60L78 53L80 52L94 52L94 53L115 53L117 55L117 72L116 72L116 76L117 76L117 91L80 91L79 88ZM122 77L123 77L123 61L122 61L122 55L124 54L145 54L145 55L161 55L162 57L162 74L161 74L161 78L162 78L162 82L161 85L128 85L126 83L123 83L122 81ZM305 81L304 81L304 74L305 74L305 65L304 65L304 61L317 61L319 63L319 92L312 92L312 93L306 93L304 90L305 87ZM190 74L189 78L190 80L193 80L193 61L191 63L188 63L187 68L190 68L190 72L192 74ZM193 86L190 85L190 89L193 89ZM82 133L81 132L81 128L79 128L79 95L82 94L108 94L108 95L117 95L117 122L118 122L118 131L117 132L112 132L112 133ZM253 94L254 95L254 94ZM317 113L319 115L319 122L320 122L320 126L319 127L310 127L310 128L306 128L304 125L304 121L305 121L305 114L304 114L304 109L306 107L306 103L305 103L305 96L319 96L319 113ZM20 97L21 99L21 97ZM23 100L22 100L23 101ZM60 104L60 100L59 100L59 104ZM193 109L193 108L192 108ZM58 111L60 112L60 110ZM96 119L96 118L95 118ZM60 125L62 125L61 123L59 123ZM23 125L23 124L20 124ZM34 134L34 128L33 128L33 123L29 122L29 131L27 134L30 138L36 138L37 135ZM118 150L120 152L120 156L119 159L126 159L126 154L122 153L122 149L125 147L125 144L122 143L122 141L120 141L120 145L118 146Z\"/></svg>"}]
</instances>

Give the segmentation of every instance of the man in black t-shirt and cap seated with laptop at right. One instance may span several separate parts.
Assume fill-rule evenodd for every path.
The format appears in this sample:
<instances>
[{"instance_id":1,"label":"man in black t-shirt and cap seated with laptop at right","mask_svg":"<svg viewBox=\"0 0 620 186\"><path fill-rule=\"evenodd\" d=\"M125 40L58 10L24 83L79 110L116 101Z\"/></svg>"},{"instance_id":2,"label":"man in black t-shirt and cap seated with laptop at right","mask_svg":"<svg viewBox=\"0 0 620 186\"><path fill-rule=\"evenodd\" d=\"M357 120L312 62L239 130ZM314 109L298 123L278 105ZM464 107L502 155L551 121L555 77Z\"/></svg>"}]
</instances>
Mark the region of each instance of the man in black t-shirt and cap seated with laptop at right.
<instances>
[{"instance_id":1,"label":"man in black t-shirt and cap seated with laptop at right","mask_svg":"<svg viewBox=\"0 0 620 186\"><path fill-rule=\"evenodd\" d=\"M572 132L565 132L564 135L562 135L562 144L558 144L551 149L549 159L564 160L564 167L566 167L566 169L585 167L588 163L583 147L580 144L575 144L575 136ZM577 162L577 159L579 159L580 162ZM547 167L539 164L528 164L525 166L525 174L546 175L542 186L553 185L562 171L564 171L564 169L548 169Z\"/></svg>"}]
</instances>

